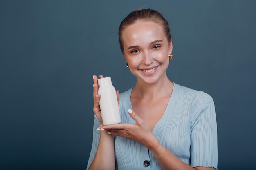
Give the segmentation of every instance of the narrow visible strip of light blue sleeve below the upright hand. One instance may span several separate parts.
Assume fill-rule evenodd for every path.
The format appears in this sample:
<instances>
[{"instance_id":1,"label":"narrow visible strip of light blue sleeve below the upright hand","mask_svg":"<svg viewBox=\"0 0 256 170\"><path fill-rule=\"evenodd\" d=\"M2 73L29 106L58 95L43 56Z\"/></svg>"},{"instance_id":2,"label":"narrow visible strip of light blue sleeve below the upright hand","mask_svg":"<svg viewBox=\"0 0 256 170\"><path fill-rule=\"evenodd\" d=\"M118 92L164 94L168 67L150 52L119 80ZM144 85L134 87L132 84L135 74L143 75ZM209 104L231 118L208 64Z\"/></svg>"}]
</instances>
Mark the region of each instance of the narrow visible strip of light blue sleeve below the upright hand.
<instances>
[{"instance_id":1,"label":"narrow visible strip of light blue sleeve below the upright hand","mask_svg":"<svg viewBox=\"0 0 256 170\"><path fill-rule=\"evenodd\" d=\"M94 115L92 149L91 149L90 157L88 159L86 170L88 170L89 166L91 165L91 163L96 155L96 151L97 151L98 144L99 144L99 137L100 137L100 132L99 132L99 130L96 130L96 128L99 127L100 125L101 124L99 123L97 117Z\"/></svg>"}]
</instances>

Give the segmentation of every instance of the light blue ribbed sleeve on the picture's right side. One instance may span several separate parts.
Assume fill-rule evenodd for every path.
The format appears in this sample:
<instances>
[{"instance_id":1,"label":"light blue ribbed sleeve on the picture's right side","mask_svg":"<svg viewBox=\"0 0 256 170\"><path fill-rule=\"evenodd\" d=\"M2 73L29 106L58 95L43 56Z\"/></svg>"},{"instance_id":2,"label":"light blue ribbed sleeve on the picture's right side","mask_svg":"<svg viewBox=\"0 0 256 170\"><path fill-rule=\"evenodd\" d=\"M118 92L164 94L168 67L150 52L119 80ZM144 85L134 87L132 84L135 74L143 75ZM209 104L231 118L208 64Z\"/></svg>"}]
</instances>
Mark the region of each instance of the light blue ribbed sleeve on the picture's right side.
<instances>
[{"instance_id":1,"label":"light blue ribbed sleeve on the picture's right side","mask_svg":"<svg viewBox=\"0 0 256 170\"><path fill-rule=\"evenodd\" d=\"M213 167L217 170L217 122L213 99L199 92L193 101L191 122L191 166Z\"/></svg>"}]
</instances>

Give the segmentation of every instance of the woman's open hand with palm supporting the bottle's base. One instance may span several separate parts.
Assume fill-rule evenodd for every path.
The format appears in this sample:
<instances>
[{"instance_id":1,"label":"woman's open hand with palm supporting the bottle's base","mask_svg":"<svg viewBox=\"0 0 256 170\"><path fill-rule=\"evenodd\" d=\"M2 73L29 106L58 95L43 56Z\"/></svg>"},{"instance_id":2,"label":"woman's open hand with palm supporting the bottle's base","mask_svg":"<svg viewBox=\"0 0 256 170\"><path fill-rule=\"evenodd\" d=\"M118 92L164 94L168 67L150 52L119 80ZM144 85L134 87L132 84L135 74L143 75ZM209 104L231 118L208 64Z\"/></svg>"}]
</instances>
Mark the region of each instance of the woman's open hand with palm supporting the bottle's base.
<instances>
[{"instance_id":1,"label":"woman's open hand with palm supporting the bottle's base","mask_svg":"<svg viewBox=\"0 0 256 170\"><path fill-rule=\"evenodd\" d=\"M132 117L132 119L136 121L135 124L113 124L108 126L101 126L98 128L101 130L107 130L108 134L131 139L143 144L147 148L150 148L149 145L152 143L150 143L149 141L152 141L152 139L156 139L151 132L150 127L131 109L128 110L128 113L130 117Z\"/></svg>"}]
</instances>

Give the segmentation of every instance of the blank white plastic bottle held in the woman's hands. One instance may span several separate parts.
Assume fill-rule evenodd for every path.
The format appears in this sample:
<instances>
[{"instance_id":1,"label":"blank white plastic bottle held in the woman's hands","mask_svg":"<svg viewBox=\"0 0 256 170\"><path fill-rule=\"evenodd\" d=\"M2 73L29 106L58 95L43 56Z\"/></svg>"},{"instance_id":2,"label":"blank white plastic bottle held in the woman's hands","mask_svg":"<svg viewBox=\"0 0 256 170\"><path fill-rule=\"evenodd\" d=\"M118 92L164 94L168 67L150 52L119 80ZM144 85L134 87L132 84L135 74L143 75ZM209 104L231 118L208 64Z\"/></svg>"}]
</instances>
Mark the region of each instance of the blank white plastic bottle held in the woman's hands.
<instances>
[{"instance_id":1,"label":"blank white plastic bottle held in the woman's hands","mask_svg":"<svg viewBox=\"0 0 256 170\"><path fill-rule=\"evenodd\" d=\"M105 77L98 79L100 95L99 106L104 125L119 124L121 122L117 94L112 85L111 78Z\"/></svg>"}]
</instances>

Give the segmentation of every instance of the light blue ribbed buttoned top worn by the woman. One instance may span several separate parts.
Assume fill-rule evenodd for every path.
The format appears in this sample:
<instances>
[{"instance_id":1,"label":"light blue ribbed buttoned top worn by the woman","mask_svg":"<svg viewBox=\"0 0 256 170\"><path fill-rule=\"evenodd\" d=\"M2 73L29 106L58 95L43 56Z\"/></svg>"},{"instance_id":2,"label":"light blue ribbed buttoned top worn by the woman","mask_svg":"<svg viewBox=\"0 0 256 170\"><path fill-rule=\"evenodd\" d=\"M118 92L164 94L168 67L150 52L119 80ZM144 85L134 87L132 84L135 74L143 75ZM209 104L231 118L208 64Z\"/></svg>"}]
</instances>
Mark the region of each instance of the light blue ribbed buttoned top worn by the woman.
<instances>
[{"instance_id":1,"label":"light blue ribbed buttoned top worn by the woman","mask_svg":"<svg viewBox=\"0 0 256 170\"><path fill-rule=\"evenodd\" d=\"M120 94L121 123L135 124L127 110L132 109L132 88ZM100 133L95 117L93 142L87 169L94 159ZM173 92L162 118L153 129L159 142L185 163L217 169L217 124L213 99L207 93L174 83ZM149 160L150 165L144 166ZM162 170L153 154L142 144L115 136L116 170Z\"/></svg>"}]
</instances>

